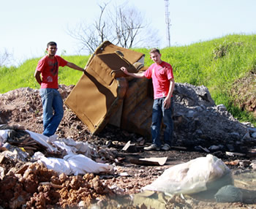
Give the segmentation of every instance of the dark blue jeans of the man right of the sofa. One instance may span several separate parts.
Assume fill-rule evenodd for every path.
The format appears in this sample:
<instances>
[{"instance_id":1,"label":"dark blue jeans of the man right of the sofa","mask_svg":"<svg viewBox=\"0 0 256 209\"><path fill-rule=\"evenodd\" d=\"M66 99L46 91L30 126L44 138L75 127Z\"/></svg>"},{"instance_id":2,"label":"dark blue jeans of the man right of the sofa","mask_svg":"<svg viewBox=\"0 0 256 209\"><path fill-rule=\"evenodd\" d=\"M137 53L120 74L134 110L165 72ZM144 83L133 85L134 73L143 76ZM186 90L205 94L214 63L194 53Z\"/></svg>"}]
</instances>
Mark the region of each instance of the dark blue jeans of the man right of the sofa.
<instances>
[{"instance_id":1,"label":"dark blue jeans of the man right of the sofa","mask_svg":"<svg viewBox=\"0 0 256 209\"><path fill-rule=\"evenodd\" d=\"M160 140L160 129L161 123L163 119L163 123L165 124L165 132L164 132L164 142L168 145L171 145L173 140L173 98L171 99L171 107L165 109L164 107L165 97L154 99L153 104L153 112L152 112L152 123L151 123L151 136L152 143L156 144L158 147L161 146Z\"/></svg>"}]
</instances>

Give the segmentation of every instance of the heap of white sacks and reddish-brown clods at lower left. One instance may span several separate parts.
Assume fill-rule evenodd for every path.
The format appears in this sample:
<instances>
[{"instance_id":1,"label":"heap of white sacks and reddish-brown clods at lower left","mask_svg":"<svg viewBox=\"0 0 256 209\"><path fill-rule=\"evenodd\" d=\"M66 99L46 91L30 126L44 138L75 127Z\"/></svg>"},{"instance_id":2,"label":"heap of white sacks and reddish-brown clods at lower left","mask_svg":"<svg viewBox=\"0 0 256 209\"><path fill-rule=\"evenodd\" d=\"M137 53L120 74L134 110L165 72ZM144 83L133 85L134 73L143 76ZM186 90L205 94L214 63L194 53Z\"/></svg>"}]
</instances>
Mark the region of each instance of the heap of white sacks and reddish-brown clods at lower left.
<instances>
[{"instance_id":1,"label":"heap of white sacks and reddish-brown clods at lower left","mask_svg":"<svg viewBox=\"0 0 256 209\"><path fill-rule=\"evenodd\" d=\"M95 199L115 195L96 175L113 173L113 166L91 159L99 159L102 152L89 143L48 138L20 126L0 129L4 208L88 207Z\"/></svg>"}]
</instances>

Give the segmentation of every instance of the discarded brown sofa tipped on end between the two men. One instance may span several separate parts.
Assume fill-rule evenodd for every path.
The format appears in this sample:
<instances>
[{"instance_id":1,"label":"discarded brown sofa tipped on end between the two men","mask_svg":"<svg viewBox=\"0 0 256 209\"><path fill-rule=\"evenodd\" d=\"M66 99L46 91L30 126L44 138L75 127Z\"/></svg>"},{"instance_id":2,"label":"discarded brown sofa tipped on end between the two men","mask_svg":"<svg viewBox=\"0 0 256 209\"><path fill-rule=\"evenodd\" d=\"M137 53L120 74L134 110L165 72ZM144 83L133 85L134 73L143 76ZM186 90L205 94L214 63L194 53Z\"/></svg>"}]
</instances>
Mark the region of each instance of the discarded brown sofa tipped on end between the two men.
<instances>
[{"instance_id":1,"label":"discarded brown sofa tipped on end between the two men","mask_svg":"<svg viewBox=\"0 0 256 209\"><path fill-rule=\"evenodd\" d=\"M121 71L145 71L144 54L106 41L97 47L86 71L65 100L92 134L107 123L150 136L153 93L146 78L129 77Z\"/></svg>"}]
</instances>

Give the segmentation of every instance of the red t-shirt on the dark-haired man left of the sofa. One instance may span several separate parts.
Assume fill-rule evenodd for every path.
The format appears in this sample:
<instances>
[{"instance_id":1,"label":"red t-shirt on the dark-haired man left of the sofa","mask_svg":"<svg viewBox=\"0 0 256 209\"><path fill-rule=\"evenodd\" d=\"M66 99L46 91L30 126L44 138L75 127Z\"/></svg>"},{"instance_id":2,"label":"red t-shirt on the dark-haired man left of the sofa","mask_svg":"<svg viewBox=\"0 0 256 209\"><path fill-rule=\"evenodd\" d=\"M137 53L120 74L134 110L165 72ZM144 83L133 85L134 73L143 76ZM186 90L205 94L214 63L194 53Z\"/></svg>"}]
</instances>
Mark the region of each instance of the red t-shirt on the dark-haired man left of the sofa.
<instances>
[{"instance_id":1,"label":"red t-shirt on the dark-haired man left of the sofa","mask_svg":"<svg viewBox=\"0 0 256 209\"><path fill-rule=\"evenodd\" d=\"M57 55L54 58L48 56L41 58L37 64L37 71L41 72L42 76L41 88L59 88L59 66L66 65L67 61Z\"/></svg>"}]
</instances>

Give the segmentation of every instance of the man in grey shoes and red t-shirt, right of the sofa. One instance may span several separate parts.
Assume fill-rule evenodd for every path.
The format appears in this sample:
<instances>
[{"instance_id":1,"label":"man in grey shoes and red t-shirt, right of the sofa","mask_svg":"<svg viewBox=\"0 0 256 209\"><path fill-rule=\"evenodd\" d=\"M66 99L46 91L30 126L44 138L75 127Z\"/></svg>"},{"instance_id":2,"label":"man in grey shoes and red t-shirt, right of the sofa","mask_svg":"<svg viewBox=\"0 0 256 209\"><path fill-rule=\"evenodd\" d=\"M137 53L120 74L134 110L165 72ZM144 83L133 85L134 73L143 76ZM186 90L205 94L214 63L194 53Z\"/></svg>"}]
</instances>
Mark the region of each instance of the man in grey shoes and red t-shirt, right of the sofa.
<instances>
[{"instance_id":1,"label":"man in grey shoes and red t-shirt, right of the sofa","mask_svg":"<svg viewBox=\"0 0 256 209\"><path fill-rule=\"evenodd\" d=\"M161 53L158 49L154 48L150 51L151 59L154 64L148 67L146 72L131 73L123 66L121 70L132 77L146 77L152 78L154 88L154 104L152 111L151 123L151 136L152 145L144 148L146 151L157 150L161 148L168 151L173 140L173 119L172 119L172 106L173 106L173 89L175 86L173 77L173 68L170 64L161 60ZM160 141L160 128L161 123L165 124L164 142L161 147Z\"/></svg>"}]
</instances>

